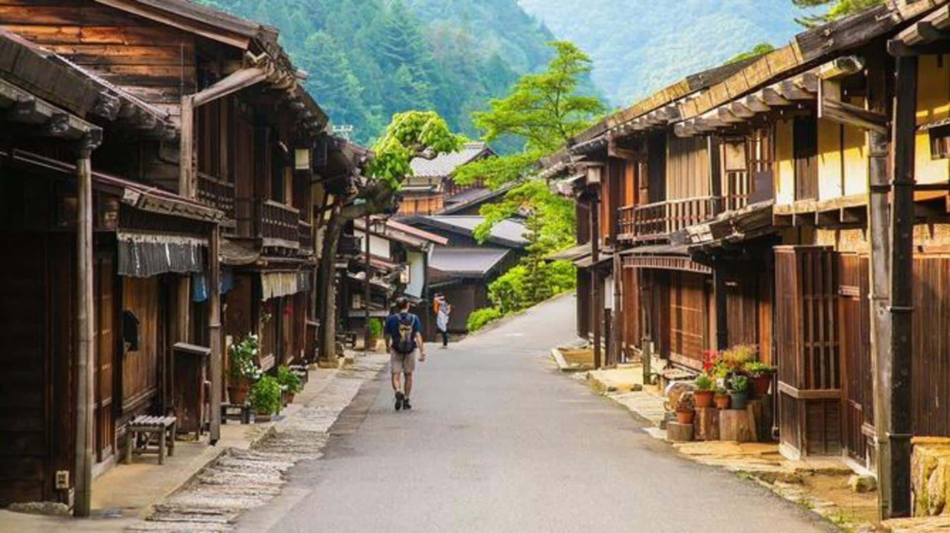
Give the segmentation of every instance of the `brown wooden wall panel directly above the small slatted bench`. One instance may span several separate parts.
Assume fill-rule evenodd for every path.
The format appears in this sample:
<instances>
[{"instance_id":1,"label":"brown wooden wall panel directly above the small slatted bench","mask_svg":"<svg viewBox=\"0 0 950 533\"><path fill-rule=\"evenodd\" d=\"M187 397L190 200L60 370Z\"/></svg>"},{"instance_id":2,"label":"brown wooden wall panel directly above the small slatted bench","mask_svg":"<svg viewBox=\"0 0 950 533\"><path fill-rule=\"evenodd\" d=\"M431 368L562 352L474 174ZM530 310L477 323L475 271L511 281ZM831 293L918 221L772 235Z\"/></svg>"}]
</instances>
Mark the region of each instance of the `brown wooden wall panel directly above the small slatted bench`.
<instances>
[{"instance_id":1,"label":"brown wooden wall panel directly above the small slatted bench","mask_svg":"<svg viewBox=\"0 0 950 533\"><path fill-rule=\"evenodd\" d=\"M123 278L123 309L139 319L139 349L126 352L122 365L123 415L148 411L159 391L162 358L161 287L158 277Z\"/></svg>"}]
</instances>

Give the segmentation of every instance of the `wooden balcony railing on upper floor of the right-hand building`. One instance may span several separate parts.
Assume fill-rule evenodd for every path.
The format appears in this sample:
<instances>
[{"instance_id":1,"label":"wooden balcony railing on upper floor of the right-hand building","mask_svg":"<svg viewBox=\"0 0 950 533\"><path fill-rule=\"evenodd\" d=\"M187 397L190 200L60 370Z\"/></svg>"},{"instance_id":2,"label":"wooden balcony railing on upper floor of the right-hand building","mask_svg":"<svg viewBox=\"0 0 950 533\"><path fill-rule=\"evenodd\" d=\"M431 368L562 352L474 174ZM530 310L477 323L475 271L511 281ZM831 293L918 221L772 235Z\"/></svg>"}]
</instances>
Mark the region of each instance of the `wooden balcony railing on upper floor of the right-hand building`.
<instances>
[{"instance_id":1,"label":"wooden balcony railing on upper floor of the right-hand building","mask_svg":"<svg viewBox=\"0 0 950 533\"><path fill-rule=\"evenodd\" d=\"M708 222L721 211L718 196L667 200L643 206L620 208L620 239L659 239L690 226Z\"/></svg>"}]
</instances>

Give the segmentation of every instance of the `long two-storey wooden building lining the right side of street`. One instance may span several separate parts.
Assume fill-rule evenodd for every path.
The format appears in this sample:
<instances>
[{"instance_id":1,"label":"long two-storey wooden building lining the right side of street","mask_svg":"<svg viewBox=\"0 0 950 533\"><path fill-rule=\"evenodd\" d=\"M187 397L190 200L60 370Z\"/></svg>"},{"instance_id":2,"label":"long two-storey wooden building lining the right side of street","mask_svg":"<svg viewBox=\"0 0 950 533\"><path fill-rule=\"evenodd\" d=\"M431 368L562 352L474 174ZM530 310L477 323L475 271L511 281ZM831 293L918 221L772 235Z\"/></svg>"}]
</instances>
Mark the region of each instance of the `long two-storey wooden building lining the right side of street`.
<instances>
[{"instance_id":1,"label":"long two-storey wooden building lining the right side of street","mask_svg":"<svg viewBox=\"0 0 950 533\"><path fill-rule=\"evenodd\" d=\"M580 284L579 332L613 325L618 358L660 373L756 344L778 366L780 450L877 471L890 516L909 511L910 436L950 434L948 20L944 1L885 3L687 77L542 161L596 213L564 258L609 249L620 272L613 324L609 289Z\"/></svg>"}]
</instances>

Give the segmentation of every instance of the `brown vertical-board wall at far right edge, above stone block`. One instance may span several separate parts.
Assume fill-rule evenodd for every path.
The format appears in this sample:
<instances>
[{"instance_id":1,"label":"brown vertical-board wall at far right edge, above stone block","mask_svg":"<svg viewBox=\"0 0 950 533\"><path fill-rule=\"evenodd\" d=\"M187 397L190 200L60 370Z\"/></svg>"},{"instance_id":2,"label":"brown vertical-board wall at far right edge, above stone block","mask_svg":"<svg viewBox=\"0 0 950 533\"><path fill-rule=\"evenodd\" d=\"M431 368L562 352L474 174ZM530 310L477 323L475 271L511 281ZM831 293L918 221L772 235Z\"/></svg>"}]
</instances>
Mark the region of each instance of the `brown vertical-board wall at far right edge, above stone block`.
<instances>
[{"instance_id":1,"label":"brown vertical-board wall at far right edge, above stone block","mask_svg":"<svg viewBox=\"0 0 950 533\"><path fill-rule=\"evenodd\" d=\"M915 256L914 280L914 434L950 436L950 256Z\"/></svg>"}]
</instances>

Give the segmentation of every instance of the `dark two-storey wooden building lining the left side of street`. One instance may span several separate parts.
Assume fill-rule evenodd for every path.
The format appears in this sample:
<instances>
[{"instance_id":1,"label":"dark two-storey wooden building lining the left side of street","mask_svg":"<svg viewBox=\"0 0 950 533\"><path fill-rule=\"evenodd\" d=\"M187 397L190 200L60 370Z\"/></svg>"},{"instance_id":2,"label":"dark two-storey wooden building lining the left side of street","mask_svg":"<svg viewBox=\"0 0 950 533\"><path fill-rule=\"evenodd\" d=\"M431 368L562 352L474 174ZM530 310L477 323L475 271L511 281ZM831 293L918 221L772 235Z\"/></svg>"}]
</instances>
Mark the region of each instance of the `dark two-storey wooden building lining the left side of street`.
<instances>
[{"instance_id":1,"label":"dark two-storey wooden building lining the left side of street","mask_svg":"<svg viewBox=\"0 0 950 533\"><path fill-rule=\"evenodd\" d=\"M24 388L0 392L0 504L85 514L136 414L218 439L229 342L258 333L265 368L312 357L322 226L366 153L327 134L276 28L186 0L8 4L0 215L24 262L0 364ZM199 414L180 342L210 349Z\"/></svg>"}]
</instances>

